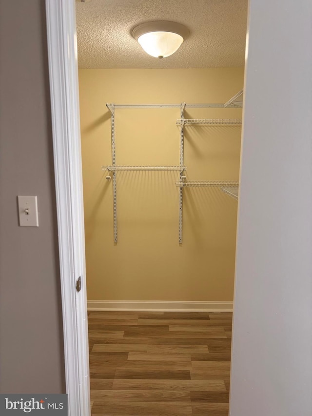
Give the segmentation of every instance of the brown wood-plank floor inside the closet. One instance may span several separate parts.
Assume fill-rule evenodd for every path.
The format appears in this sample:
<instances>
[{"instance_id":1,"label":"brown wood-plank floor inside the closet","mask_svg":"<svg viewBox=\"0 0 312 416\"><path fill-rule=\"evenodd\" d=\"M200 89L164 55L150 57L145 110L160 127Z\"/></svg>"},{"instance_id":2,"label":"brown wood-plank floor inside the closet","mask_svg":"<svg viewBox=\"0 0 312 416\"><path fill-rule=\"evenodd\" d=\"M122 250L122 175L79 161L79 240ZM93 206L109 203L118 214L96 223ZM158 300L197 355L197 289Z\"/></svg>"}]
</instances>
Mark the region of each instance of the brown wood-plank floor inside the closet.
<instances>
[{"instance_id":1,"label":"brown wood-plank floor inside the closet","mask_svg":"<svg viewBox=\"0 0 312 416\"><path fill-rule=\"evenodd\" d=\"M228 416L232 313L88 319L93 416Z\"/></svg>"}]
</instances>

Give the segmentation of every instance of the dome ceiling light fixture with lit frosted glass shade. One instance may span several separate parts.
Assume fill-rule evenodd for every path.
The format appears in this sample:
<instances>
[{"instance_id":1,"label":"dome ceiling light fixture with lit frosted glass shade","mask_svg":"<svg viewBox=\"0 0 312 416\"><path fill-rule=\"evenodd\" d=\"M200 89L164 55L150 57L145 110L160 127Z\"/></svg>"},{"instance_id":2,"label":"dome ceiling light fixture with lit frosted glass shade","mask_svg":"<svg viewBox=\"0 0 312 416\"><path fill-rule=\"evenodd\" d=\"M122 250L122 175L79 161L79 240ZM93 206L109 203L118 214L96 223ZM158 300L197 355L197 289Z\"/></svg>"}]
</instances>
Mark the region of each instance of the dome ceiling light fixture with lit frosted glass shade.
<instances>
[{"instance_id":1,"label":"dome ceiling light fixture with lit frosted glass shade","mask_svg":"<svg viewBox=\"0 0 312 416\"><path fill-rule=\"evenodd\" d=\"M132 31L132 36L152 57L166 58L179 49L189 33L189 30L181 23L150 21L136 26Z\"/></svg>"}]
</instances>

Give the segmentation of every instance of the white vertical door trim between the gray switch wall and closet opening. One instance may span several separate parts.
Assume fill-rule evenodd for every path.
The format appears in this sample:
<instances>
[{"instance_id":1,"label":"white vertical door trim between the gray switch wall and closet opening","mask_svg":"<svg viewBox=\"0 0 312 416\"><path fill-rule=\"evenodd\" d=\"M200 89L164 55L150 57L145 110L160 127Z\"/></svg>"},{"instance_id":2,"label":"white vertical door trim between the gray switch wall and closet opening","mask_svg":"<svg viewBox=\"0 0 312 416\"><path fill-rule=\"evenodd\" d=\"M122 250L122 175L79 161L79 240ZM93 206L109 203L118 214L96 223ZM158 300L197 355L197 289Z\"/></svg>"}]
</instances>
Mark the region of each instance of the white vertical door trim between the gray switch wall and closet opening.
<instances>
[{"instance_id":1,"label":"white vertical door trim between the gray switch wall and closet opening","mask_svg":"<svg viewBox=\"0 0 312 416\"><path fill-rule=\"evenodd\" d=\"M45 0L68 415L90 415L75 1ZM75 282L81 277L81 291Z\"/></svg>"}]
</instances>

